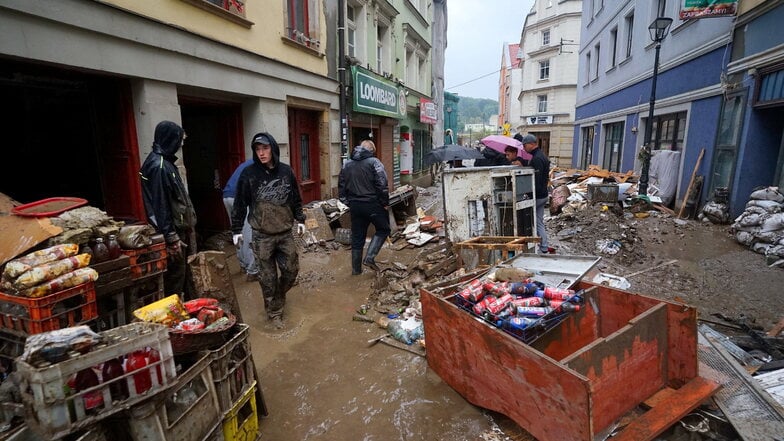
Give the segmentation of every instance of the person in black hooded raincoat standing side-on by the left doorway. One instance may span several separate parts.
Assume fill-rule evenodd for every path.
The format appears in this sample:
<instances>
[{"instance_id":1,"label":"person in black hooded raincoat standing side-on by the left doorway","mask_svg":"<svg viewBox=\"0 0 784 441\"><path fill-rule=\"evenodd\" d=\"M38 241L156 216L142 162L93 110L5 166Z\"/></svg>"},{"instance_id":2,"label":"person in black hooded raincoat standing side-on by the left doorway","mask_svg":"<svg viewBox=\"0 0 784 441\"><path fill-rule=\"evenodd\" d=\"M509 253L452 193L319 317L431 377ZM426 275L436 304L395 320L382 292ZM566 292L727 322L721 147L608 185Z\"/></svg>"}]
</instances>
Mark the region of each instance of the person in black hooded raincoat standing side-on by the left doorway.
<instances>
[{"instance_id":1,"label":"person in black hooded raincoat standing side-on by the left doorway","mask_svg":"<svg viewBox=\"0 0 784 441\"><path fill-rule=\"evenodd\" d=\"M166 241L169 262L164 274L164 291L183 298L187 297L185 257L196 252L196 212L175 164L175 154L184 141L182 127L161 121L155 127L152 152L139 171L147 221Z\"/></svg>"}]
</instances>

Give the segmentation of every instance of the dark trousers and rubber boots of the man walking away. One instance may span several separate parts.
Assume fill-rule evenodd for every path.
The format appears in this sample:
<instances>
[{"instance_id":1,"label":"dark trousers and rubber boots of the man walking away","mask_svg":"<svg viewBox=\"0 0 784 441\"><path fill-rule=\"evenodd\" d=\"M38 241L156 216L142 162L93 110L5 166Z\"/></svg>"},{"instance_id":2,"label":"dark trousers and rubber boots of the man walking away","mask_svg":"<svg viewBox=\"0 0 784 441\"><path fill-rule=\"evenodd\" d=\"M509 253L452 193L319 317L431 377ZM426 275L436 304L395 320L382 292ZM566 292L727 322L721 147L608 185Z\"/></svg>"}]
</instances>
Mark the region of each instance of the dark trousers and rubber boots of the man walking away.
<instances>
[{"instance_id":1,"label":"dark trousers and rubber boots of the man walking away","mask_svg":"<svg viewBox=\"0 0 784 441\"><path fill-rule=\"evenodd\" d=\"M367 254L363 262L368 266L375 266L375 258L389 237L389 213L378 202L352 202L349 208L351 213L351 267L352 274L359 274L362 268L354 267L355 256L362 257L365 248L365 238L370 224L376 229L373 239L368 245ZM356 251L359 253L357 254ZM372 267L371 266L371 267ZM359 271L355 271L355 270Z\"/></svg>"}]
</instances>

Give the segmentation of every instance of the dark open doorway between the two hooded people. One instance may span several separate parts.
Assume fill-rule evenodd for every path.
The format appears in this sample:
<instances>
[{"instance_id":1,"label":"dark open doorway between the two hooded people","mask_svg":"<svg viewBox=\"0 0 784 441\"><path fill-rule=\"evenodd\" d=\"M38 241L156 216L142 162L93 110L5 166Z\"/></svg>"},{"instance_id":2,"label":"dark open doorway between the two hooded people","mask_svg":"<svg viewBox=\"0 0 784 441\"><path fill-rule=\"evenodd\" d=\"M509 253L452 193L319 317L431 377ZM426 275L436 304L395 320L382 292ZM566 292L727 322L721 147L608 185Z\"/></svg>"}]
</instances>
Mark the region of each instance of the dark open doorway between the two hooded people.
<instances>
[{"instance_id":1,"label":"dark open doorway between the two hooded people","mask_svg":"<svg viewBox=\"0 0 784 441\"><path fill-rule=\"evenodd\" d=\"M223 187L245 160L241 106L180 97L182 127L187 139L182 159L188 192L196 209L196 232L204 240L230 229L223 206Z\"/></svg>"}]
</instances>

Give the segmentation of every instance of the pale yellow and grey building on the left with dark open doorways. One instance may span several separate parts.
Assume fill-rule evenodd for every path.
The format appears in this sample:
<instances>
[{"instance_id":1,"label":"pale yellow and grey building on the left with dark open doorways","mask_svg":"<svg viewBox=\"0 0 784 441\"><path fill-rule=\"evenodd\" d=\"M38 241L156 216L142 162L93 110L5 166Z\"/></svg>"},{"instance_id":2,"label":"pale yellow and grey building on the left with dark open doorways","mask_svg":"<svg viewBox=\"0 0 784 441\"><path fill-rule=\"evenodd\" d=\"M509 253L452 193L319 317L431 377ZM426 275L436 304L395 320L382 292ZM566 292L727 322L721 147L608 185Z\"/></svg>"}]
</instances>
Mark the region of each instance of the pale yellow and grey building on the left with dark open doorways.
<instances>
[{"instance_id":1,"label":"pale yellow and grey building on the left with dark open doorways","mask_svg":"<svg viewBox=\"0 0 784 441\"><path fill-rule=\"evenodd\" d=\"M322 0L263 3L0 2L0 124L14 146L0 191L144 220L139 166L171 120L188 136L179 163L202 237L228 228L221 188L259 131L278 140L306 202L329 196L338 87Z\"/></svg>"}]
</instances>

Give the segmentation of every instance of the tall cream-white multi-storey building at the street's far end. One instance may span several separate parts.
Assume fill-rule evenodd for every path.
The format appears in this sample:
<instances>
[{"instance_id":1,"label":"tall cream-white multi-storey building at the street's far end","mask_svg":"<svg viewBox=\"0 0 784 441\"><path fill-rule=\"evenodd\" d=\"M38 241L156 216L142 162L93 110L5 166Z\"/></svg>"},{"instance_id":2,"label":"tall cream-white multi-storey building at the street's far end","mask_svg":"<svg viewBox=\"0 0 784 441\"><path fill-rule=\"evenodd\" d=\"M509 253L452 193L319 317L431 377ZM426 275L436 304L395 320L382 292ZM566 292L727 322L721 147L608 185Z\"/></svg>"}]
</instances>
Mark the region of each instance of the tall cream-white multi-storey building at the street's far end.
<instances>
[{"instance_id":1,"label":"tall cream-white multi-storey building at the street's far end","mask_svg":"<svg viewBox=\"0 0 784 441\"><path fill-rule=\"evenodd\" d=\"M520 39L520 92L512 127L535 135L553 166L572 160L582 2L536 0Z\"/></svg>"}]
</instances>

